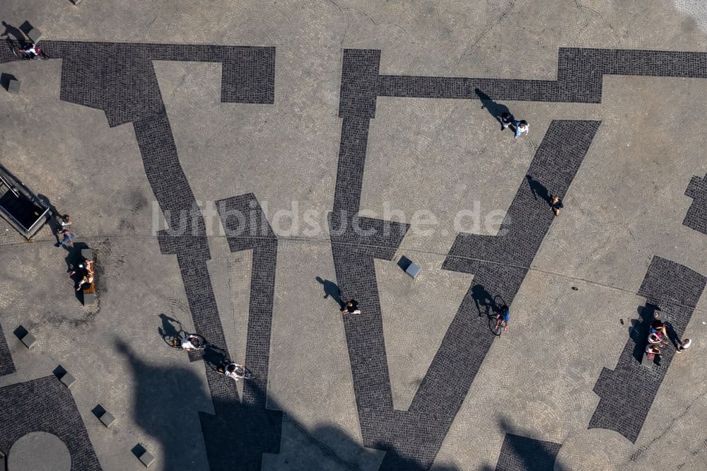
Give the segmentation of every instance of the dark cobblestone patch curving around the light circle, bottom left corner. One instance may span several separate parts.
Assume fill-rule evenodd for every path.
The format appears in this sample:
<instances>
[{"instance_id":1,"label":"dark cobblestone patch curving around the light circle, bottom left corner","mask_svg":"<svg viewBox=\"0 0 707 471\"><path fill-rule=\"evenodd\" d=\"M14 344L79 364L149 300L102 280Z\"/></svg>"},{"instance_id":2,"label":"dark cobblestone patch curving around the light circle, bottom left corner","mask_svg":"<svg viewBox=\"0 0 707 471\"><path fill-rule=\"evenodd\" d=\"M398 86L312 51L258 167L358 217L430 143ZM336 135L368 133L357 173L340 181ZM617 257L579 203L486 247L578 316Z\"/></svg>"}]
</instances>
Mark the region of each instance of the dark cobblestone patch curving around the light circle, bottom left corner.
<instances>
[{"instance_id":1,"label":"dark cobblestone patch curving around the light circle, bottom left corner","mask_svg":"<svg viewBox=\"0 0 707 471\"><path fill-rule=\"evenodd\" d=\"M74 397L54 376L0 388L0 424L0 451L5 454L21 436L45 431L66 444L72 471L101 469Z\"/></svg>"}]
</instances>

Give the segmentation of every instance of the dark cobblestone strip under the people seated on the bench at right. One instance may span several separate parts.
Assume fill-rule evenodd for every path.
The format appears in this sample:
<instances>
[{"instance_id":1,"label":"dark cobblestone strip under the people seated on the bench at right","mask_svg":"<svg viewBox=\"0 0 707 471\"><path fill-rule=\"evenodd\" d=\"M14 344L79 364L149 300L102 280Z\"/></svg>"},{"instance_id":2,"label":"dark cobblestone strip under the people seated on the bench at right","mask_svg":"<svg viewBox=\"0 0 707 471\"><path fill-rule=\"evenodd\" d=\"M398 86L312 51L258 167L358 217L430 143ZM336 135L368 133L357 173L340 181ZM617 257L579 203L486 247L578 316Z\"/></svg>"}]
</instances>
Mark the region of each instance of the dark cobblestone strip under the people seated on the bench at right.
<instances>
[{"instance_id":1,"label":"dark cobblestone strip under the people seated on the bench at right","mask_svg":"<svg viewBox=\"0 0 707 471\"><path fill-rule=\"evenodd\" d=\"M677 337L682 338L706 282L701 274L681 264L653 257L638 296L658 306L662 320L670 323ZM638 358L643 356L652 321L652 316L639 319L633 327L634 334L621 351L617 367L602 370L594 387L601 400L590 420L590 429L614 430L636 443L675 351L674 347L664 349L660 366L641 365Z\"/></svg>"}]
</instances>

